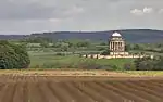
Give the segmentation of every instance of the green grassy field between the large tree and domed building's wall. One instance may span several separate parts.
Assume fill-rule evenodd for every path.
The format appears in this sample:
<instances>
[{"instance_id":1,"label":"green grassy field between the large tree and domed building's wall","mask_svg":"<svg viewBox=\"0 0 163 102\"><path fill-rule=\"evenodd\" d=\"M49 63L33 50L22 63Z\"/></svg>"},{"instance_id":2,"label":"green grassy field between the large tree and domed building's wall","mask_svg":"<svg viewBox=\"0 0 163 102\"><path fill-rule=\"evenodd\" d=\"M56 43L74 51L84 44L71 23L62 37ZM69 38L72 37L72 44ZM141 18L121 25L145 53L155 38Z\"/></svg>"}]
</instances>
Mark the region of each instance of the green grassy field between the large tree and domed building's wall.
<instances>
[{"instance_id":1,"label":"green grassy field between the large tree and domed building's wall","mask_svg":"<svg viewBox=\"0 0 163 102\"><path fill-rule=\"evenodd\" d=\"M79 64L99 65L109 68L110 65L116 65L116 68L123 68L124 64L133 63L133 59L86 59L79 55L55 55L53 53L29 53L30 68L59 68L67 66L70 68L82 68Z\"/></svg>"}]
</instances>

